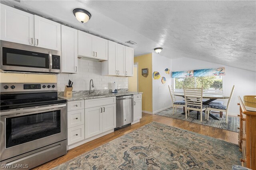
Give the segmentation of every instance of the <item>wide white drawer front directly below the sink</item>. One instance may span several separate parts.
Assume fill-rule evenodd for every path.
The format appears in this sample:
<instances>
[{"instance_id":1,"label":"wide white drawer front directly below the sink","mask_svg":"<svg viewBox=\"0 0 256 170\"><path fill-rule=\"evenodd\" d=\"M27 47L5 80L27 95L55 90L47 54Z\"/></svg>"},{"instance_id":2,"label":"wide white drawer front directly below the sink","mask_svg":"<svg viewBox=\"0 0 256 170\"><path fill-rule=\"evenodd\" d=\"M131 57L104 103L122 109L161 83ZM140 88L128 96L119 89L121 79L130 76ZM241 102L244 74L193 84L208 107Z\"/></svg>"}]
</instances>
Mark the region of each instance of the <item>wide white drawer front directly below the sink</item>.
<instances>
[{"instance_id":1,"label":"wide white drawer front directly below the sink","mask_svg":"<svg viewBox=\"0 0 256 170\"><path fill-rule=\"evenodd\" d=\"M84 100L85 108L116 104L116 97Z\"/></svg>"}]
</instances>

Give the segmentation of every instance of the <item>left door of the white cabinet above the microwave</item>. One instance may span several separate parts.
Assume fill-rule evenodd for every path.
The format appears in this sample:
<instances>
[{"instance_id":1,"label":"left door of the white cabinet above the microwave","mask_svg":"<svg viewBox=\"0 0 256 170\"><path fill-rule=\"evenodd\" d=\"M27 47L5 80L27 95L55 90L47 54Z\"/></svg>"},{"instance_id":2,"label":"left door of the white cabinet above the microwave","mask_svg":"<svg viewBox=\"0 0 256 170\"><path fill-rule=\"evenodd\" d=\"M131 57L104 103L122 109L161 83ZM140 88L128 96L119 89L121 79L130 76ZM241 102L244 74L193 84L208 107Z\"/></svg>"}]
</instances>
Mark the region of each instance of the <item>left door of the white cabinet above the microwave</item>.
<instances>
[{"instance_id":1,"label":"left door of the white cabinet above the microwave","mask_svg":"<svg viewBox=\"0 0 256 170\"><path fill-rule=\"evenodd\" d=\"M1 4L1 40L34 45L34 15Z\"/></svg>"}]
</instances>

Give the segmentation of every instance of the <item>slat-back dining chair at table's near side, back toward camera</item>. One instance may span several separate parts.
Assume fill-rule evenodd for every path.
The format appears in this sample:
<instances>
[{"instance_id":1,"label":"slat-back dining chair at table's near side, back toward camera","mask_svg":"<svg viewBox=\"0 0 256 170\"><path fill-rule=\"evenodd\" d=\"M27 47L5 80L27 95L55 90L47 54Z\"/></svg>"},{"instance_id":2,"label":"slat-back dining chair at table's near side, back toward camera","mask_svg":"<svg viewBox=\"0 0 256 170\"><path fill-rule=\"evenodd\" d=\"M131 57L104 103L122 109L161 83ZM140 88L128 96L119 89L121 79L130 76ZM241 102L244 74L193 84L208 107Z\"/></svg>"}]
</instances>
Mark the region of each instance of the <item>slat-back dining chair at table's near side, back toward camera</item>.
<instances>
[{"instance_id":1,"label":"slat-back dining chair at table's near side, back toward camera","mask_svg":"<svg viewBox=\"0 0 256 170\"><path fill-rule=\"evenodd\" d=\"M206 105L203 105L203 86L202 88L184 88L185 97L185 117L189 115L190 110L200 112L200 121L202 122L202 113L206 110Z\"/></svg>"}]
</instances>

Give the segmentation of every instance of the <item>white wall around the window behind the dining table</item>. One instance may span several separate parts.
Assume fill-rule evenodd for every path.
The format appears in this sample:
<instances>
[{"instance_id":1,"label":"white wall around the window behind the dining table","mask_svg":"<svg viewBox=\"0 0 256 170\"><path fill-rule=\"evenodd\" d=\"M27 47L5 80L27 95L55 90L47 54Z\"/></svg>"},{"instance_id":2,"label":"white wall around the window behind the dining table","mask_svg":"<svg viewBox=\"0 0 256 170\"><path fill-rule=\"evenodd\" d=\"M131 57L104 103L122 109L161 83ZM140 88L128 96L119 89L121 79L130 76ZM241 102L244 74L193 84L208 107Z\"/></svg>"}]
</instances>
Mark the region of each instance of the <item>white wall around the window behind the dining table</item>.
<instances>
[{"instance_id":1,"label":"white wall around the window behind the dining table","mask_svg":"<svg viewBox=\"0 0 256 170\"><path fill-rule=\"evenodd\" d=\"M238 114L239 107L238 96L243 98L244 95L256 95L256 72L243 70L240 68L234 68L225 66L223 64L210 63L206 61L191 59L191 58L178 58L172 59L172 71L187 71L201 68L215 68L225 67L226 75L223 76L223 92L225 96L230 95L230 91L233 85L235 90L233 97L230 102L230 113ZM173 78L172 78L173 79ZM172 80L173 83L173 80ZM183 98L176 98L176 100L183 100ZM228 100L224 99L224 105L227 104Z\"/></svg>"}]
</instances>

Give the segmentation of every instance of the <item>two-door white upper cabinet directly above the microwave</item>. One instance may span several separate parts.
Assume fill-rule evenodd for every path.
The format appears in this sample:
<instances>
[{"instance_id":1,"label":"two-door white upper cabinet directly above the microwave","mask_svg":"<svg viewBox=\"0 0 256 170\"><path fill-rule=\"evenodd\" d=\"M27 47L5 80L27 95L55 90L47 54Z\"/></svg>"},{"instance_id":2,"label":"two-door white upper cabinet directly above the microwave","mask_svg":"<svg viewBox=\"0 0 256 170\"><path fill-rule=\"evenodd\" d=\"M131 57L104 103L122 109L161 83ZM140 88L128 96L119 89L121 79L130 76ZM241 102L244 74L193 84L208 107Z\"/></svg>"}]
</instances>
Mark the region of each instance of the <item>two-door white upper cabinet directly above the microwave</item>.
<instances>
[{"instance_id":1,"label":"two-door white upper cabinet directly above the microwave","mask_svg":"<svg viewBox=\"0 0 256 170\"><path fill-rule=\"evenodd\" d=\"M1 40L60 51L60 24L1 4Z\"/></svg>"}]
</instances>

